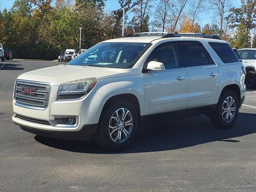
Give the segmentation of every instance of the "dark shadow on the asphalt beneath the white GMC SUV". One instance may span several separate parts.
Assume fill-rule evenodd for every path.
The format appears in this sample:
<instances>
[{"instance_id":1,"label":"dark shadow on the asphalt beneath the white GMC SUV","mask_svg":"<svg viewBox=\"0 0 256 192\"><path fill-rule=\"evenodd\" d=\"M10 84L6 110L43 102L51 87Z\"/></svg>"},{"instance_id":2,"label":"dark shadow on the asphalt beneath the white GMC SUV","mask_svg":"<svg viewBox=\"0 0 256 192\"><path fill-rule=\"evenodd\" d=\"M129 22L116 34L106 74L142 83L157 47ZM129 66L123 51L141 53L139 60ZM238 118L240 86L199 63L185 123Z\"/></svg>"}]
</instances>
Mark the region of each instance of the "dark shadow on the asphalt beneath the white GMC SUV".
<instances>
[{"instance_id":1,"label":"dark shadow on the asphalt beneath the white GMC SUV","mask_svg":"<svg viewBox=\"0 0 256 192\"><path fill-rule=\"evenodd\" d=\"M58 140L35 136L35 140L62 150L91 154L125 154L156 152L186 148L214 141L240 142L236 137L256 133L256 114L240 113L236 124L226 130L212 126L206 116L140 127L136 140L128 149L110 152L99 148L94 141ZM233 138L233 139L230 139Z\"/></svg>"}]
</instances>

